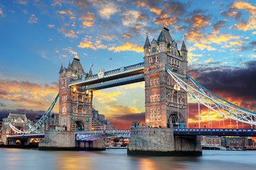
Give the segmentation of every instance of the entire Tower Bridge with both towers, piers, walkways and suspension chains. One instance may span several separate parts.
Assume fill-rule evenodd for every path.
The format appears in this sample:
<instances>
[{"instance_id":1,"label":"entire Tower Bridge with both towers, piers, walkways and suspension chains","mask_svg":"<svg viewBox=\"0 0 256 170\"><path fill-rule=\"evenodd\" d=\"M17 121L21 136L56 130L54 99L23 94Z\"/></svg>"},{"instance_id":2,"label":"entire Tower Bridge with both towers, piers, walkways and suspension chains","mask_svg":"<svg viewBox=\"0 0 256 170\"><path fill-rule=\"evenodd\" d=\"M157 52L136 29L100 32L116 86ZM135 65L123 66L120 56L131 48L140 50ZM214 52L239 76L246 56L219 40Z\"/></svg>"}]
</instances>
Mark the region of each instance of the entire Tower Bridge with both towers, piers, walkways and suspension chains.
<instances>
[{"instance_id":1,"label":"entire Tower Bridge with both towers, piers, walkways and suspension chains","mask_svg":"<svg viewBox=\"0 0 256 170\"><path fill-rule=\"evenodd\" d=\"M172 39L169 29L163 27L157 39L146 36L143 63L120 67L111 71L100 69L86 73L80 58L59 71L59 94L44 116L35 125L23 131L14 124L16 133L38 135L59 97L59 114L55 131L44 131L41 148L104 149L102 135L117 131L92 131L94 90L145 82L144 127L133 127L120 134L130 135L128 154L150 155L201 155L200 135L255 136L256 114L218 97L201 86L187 73L187 49L184 40L180 49ZM237 129L189 129L188 97L208 107L220 116L236 121ZM238 122L251 124L251 129L238 129ZM77 132L77 129L81 132ZM24 136L12 136L24 137ZM28 136L26 136L28 137Z\"/></svg>"}]
</instances>

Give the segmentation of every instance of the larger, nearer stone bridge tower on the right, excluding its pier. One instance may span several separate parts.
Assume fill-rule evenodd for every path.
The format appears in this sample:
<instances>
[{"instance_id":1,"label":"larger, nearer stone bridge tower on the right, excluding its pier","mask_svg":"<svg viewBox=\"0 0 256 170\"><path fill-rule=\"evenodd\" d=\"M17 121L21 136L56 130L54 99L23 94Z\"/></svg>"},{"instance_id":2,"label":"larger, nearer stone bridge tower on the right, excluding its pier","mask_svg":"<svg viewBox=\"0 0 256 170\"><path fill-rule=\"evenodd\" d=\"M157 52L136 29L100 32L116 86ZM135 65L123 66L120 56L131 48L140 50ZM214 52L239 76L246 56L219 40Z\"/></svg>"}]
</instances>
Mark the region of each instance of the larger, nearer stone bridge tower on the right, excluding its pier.
<instances>
[{"instance_id":1,"label":"larger, nearer stone bridge tower on the right, excluding its pier","mask_svg":"<svg viewBox=\"0 0 256 170\"><path fill-rule=\"evenodd\" d=\"M169 67L186 80L187 50L184 40L178 50L169 29L162 27L158 39L151 44L148 36L144 45L145 120L150 127L185 127L188 119L188 100L165 71ZM180 121L179 121L180 120Z\"/></svg>"}]
</instances>

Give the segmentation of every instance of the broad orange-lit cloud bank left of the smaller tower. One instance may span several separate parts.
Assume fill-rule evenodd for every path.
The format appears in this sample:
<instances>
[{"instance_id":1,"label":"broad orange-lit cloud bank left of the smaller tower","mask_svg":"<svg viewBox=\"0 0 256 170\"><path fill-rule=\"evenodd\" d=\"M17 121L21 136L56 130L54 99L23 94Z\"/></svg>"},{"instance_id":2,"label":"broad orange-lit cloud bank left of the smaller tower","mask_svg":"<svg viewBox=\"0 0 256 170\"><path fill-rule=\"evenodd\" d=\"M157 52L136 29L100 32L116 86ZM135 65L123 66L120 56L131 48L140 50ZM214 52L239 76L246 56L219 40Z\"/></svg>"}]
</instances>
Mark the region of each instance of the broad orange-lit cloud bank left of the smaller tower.
<instances>
[{"instance_id":1,"label":"broad orange-lit cloud bank left of the smaller tower","mask_svg":"<svg viewBox=\"0 0 256 170\"><path fill-rule=\"evenodd\" d=\"M0 79L0 101L8 107L46 109L57 92L56 84L35 84Z\"/></svg>"}]
</instances>

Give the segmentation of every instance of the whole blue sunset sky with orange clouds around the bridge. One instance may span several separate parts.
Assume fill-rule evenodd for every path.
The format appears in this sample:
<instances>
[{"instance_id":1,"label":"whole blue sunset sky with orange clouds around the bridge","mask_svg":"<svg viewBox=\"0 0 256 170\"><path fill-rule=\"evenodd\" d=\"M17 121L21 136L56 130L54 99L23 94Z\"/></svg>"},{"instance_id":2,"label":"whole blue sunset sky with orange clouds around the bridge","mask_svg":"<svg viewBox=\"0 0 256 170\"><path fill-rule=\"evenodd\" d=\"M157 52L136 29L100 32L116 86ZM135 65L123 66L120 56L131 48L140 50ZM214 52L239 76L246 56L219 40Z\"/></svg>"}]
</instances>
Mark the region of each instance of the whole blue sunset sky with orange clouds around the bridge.
<instances>
[{"instance_id":1,"label":"whole blue sunset sky with orange clouds around the bridge","mask_svg":"<svg viewBox=\"0 0 256 170\"><path fill-rule=\"evenodd\" d=\"M1 0L0 114L44 113L57 95L61 63L76 55L94 74L143 62L146 33L157 39L164 22L178 48L184 36L195 80L256 112L256 1ZM144 121L144 95L144 82L98 90L94 108L128 129ZM196 108L190 103L192 125ZM206 108L201 116L208 126Z\"/></svg>"}]
</instances>

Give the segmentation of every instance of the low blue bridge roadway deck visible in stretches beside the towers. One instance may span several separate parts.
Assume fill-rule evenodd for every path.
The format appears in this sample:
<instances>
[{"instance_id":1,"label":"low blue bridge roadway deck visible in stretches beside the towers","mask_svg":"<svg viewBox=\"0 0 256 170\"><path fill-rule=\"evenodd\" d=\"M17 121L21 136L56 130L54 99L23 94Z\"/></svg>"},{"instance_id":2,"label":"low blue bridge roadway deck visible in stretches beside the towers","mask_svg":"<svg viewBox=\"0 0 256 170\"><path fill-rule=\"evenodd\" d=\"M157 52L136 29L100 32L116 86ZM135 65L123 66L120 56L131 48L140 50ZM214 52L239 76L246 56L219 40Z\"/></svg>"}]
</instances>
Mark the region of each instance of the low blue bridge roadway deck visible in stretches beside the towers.
<instances>
[{"instance_id":1,"label":"low blue bridge roadway deck visible in stretches beside the towers","mask_svg":"<svg viewBox=\"0 0 256 170\"><path fill-rule=\"evenodd\" d=\"M130 131L79 131L76 132L76 140L99 139L100 135L124 135L128 137ZM191 136L244 136L256 137L256 129L173 129L173 135ZM9 135L8 139L40 138L44 133L27 135Z\"/></svg>"}]
</instances>

